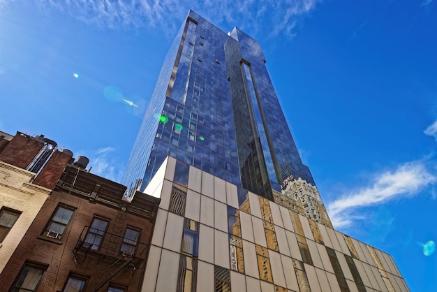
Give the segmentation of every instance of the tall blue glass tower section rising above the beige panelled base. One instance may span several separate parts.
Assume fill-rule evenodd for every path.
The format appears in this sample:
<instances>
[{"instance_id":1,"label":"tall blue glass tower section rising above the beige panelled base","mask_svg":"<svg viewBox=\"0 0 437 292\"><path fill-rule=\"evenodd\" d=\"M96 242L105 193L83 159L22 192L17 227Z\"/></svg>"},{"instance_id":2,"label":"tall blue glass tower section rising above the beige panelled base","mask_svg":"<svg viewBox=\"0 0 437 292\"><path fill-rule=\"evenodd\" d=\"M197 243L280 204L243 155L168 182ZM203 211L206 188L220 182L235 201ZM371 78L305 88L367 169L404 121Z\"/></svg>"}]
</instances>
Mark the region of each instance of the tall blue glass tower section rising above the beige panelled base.
<instances>
[{"instance_id":1,"label":"tall blue glass tower section rising above the beige panelled base","mask_svg":"<svg viewBox=\"0 0 437 292\"><path fill-rule=\"evenodd\" d=\"M122 182L143 191L168 155L270 200L290 175L314 184L259 43L193 11L165 57Z\"/></svg>"}]
</instances>

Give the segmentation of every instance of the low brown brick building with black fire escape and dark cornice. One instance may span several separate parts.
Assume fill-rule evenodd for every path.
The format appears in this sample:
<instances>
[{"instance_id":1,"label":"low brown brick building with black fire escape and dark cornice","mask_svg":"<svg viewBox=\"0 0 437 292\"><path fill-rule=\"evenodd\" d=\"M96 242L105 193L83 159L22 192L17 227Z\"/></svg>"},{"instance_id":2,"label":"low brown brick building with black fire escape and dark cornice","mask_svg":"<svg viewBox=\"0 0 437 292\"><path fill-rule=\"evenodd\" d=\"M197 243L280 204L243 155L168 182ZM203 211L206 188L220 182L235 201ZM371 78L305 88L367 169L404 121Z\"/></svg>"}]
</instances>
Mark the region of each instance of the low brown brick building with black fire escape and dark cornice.
<instances>
[{"instance_id":1,"label":"low brown brick building with black fire escape and dark cornice","mask_svg":"<svg viewBox=\"0 0 437 292\"><path fill-rule=\"evenodd\" d=\"M10 143L1 160L14 160ZM125 201L126 187L85 167L68 163L54 183L54 175L40 172L50 196L0 273L0 291L139 291L160 200L137 192Z\"/></svg>"}]
</instances>

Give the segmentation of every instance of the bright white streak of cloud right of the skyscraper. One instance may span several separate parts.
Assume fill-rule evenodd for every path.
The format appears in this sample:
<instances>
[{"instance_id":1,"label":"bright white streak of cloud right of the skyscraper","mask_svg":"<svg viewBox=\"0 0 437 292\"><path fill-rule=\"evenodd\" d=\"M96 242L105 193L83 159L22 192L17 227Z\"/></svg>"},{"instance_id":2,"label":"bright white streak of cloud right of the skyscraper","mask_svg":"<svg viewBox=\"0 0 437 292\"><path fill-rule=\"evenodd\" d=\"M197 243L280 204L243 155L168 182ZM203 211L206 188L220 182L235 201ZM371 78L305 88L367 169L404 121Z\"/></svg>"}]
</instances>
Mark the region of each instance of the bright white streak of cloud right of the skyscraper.
<instances>
[{"instance_id":1,"label":"bright white streak of cloud right of the skyscraper","mask_svg":"<svg viewBox=\"0 0 437 292\"><path fill-rule=\"evenodd\" d=\"M436 180L437 177L429 173L422 161L406 163L393 171L375 175L369 187L343 194L327 205L327 211L334 227L347 227L357 219L364 219L357 213L357 208L412 196Z\"/></svg>"}]
</instances>

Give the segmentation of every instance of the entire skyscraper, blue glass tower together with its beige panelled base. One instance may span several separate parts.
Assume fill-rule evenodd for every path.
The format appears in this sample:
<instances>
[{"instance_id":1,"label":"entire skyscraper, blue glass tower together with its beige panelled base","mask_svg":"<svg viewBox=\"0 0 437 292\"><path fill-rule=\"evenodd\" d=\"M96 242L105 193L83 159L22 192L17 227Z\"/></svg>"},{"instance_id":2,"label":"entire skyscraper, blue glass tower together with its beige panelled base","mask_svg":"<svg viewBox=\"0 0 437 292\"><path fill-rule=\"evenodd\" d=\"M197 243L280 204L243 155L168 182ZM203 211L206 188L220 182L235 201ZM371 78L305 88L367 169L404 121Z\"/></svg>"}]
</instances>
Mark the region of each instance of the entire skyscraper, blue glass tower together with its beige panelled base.
<instances>
[{"instance_id":1,"label":"entire skyscraper, blue glass tower together with its beige panelled base","mask_svg":"<svg viewBox=\"0 0 437 292\"><path fill-rule=\"evenodd\" d=\"M124 183L161 198L144 292L408 291L390 255L332 228L259 43L193 11Z\"/></svg>"}]
</instances>

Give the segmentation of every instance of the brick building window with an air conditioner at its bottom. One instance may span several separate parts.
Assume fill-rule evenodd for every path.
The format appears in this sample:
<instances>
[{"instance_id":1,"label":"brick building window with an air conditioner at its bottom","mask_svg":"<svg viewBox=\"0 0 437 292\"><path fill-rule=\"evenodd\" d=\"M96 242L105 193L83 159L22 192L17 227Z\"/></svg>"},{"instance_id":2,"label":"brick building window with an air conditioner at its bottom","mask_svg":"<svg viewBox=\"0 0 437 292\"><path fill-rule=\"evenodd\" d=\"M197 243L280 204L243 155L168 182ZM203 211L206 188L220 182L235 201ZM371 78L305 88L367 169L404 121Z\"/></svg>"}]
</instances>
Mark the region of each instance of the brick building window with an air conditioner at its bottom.
<instances>
[{"instance_id":1,"label":"brick building window with an air conditioner at its bottom","mask_svg":"<svg viewBox=\"0 0 437 292\"><path fill-rule=\"evenodd\" d=\"M61 240L74 212L74 207L59 203L49 223L45 226L43 235L47 236L47 238Z\"/></svg>"}]
</instances>

